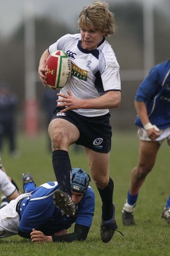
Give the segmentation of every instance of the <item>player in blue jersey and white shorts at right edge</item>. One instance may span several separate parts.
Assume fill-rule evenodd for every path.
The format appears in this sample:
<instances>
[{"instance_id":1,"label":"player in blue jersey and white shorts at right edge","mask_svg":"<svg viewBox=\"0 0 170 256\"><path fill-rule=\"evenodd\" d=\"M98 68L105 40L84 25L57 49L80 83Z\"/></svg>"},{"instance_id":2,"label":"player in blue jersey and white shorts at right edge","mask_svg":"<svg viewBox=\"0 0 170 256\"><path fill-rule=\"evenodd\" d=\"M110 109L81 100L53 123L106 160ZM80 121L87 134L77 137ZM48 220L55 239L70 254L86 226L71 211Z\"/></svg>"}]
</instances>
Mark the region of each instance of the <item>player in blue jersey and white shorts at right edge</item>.
<instances>
[{"instance_id":1,"label":"player in blue jersey and white shorts at right edge","mask_svg":"<svg viewBox=\"0 0 170 256\"><path fill-rule=\"evenodd\" d=\"M127 202L123 206L124 225L134 225L134 207L139 189L152 170L157 152L164 140L170 145L170 60L151 68L150 73L139 86L135 95L139 127L139 160L132 170ZM162 212L170 224L170 196Z\"/></svg>"}]
</instances>

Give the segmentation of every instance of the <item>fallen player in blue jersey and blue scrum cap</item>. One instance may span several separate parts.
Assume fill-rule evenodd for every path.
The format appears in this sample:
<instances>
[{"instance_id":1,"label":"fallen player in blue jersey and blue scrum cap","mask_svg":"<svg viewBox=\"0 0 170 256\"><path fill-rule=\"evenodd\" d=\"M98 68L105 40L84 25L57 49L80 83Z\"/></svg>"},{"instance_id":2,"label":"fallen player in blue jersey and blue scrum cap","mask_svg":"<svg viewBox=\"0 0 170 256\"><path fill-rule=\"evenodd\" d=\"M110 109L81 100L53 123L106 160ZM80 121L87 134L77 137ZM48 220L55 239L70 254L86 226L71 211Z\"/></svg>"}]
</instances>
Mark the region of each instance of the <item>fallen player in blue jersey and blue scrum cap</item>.
<instances>
[{"instance_id":1,"label":"fallen player in blue jersey and blue scrum cap","mask_svg":"<svg viewBox=\"0 0 170 256\"><path fill-rule=\"evenodd\" d=\"M45 236L52 236L54 242L86 239L95 211L95 194L89 187L88 173L81 168L72 169L72 200L76 207L74 217L66 216L55 205L57 182L47 182L35 188L30 174L24 175L23 180L27 193L12 200L0 210L0 237L19 234L30 239L32 231L40 230ZM70 228L73 223L73 233L55 236L58 232Z\"/></svg>"}]
</instances>

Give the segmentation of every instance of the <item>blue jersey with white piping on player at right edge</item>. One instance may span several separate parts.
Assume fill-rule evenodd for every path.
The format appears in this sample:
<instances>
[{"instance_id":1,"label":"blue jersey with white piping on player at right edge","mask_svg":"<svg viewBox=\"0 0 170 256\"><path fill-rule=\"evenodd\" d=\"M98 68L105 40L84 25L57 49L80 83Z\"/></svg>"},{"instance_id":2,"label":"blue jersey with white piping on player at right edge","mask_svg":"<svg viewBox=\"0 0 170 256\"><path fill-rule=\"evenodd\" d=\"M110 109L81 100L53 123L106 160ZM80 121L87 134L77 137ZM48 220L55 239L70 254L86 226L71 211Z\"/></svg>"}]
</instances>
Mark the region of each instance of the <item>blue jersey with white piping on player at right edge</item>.
<instances>
[{"instance_id":1,"label":"blue jersey with white piping on player at right edge","mask_svg":"<svg viewBox=\"0 0 170 256\"><path fill-rule=\"evenodd\" d=\"M159 129L170 127L170 60L151 68L139 86L135 100L144 102L151 124ZM135 125L143 127L139 116Z\"/></svg>"}]
</instances>

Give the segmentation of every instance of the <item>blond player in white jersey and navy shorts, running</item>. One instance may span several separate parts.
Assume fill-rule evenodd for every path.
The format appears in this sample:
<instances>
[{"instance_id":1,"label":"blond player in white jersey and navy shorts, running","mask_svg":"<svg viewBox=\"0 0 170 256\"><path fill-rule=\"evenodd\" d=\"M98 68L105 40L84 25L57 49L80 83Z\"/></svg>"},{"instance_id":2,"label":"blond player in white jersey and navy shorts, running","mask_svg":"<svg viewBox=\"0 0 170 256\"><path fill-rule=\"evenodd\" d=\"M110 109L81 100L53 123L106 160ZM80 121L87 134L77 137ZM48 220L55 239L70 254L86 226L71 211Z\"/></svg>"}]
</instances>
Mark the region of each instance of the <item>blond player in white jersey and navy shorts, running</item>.
<instances>
[{"instance_id":1,"label":"blond player in white jersey and navy shorts, running","mask_svg":"<svg viewBox=\"0 0 170 256\"><path fill-rule=\"evenodd\" d=\"M91 177L102 199L100 236L107 243L118 228L112 203L114 182L109 177L112 136L109 109L120 105L120 67L105 40L115 32L114 15L107 3L95 1L83 8L78 26L79 34L62 36L43 52L38 73L47 86L45 61L54 51L66 52L72 61L72 76L58 93L58 105L49 124L52 164L59 189L65 192L68 201L63 211L72 216L75 209L69 200L72 166L68 149L73 143L84 146Z\"/></svg>"}]
</instances>

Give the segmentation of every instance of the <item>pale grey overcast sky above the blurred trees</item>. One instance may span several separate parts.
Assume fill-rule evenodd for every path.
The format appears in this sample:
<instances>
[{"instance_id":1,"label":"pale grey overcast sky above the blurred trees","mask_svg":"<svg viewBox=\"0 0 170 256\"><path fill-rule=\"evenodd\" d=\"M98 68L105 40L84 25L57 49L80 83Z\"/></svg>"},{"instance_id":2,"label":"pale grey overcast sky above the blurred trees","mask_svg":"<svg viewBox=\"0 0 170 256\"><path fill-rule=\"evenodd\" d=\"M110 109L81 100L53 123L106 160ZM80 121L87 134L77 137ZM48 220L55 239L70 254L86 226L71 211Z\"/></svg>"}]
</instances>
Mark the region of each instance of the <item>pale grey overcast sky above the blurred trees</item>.
<instances>
[{"instance_id":1,"label":"pale grey overcast sky above the blurred trees","mask_svg":"<svg viewBox=\"0 0 170 256\"><path fill-rule=\"evenodd\" d=\"M164 9L169 15L170 0L106 0L107 3L146 2ZM24 20L24 10L29 10L33 3L36 17L41 15L59 19L68 26L75 26L82 7L93 3L93 0L0 0L0 36L8 36Z\"/></svg>"}]
</instances>

